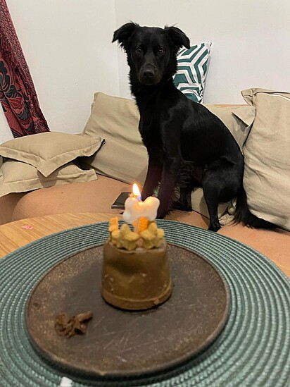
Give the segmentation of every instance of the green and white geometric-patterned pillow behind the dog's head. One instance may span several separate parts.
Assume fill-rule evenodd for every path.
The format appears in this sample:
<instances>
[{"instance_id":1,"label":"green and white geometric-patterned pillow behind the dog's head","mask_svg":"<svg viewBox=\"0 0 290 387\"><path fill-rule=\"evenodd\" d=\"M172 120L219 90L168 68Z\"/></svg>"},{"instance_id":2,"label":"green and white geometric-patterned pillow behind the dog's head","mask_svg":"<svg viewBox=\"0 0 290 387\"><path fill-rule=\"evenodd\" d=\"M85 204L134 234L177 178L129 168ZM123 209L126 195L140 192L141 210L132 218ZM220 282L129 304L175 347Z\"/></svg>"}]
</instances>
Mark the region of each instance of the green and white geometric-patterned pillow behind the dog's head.
<instances>
[{"instance_id":1,"label":"green and white geometric-patterned pillow behind the dog's head","mask_svg":"<svg viewBox=\"0 0 290 387\"><path fill-rule=\"evenodd\" d=\"M211 42L182 49L177 55L175 87L195 102L203 102L204 82L208 70Z\"/></svg>"}]
</instances>

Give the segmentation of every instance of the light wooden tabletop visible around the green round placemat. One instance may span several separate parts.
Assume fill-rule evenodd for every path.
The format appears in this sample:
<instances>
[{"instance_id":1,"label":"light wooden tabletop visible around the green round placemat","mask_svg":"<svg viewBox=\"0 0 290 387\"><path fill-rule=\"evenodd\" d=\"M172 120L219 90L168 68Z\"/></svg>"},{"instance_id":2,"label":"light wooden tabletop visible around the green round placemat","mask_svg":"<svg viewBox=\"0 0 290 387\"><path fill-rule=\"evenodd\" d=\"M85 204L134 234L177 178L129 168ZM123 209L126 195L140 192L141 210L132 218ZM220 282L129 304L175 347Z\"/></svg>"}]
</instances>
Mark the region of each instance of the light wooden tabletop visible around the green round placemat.
<instances>
[{"instance_id":1,"label":"light wooden tabletop visible around the green round placemat","mask_svg":"<svg viewBox=\"0 0 290 387\"><path fill-rule=\"evenodd\" d=\"M33 240L46 235L58 233L77 226L89 223L108 221L115 214L83 213L83 214L54 214L27 218L20 221L6 223L0 226L0 259L18 247L24 246ZM29 228L27 226L32 226ZM290 278L289 259L272 259L279 268Z\"/></svg>"}]
</instances>

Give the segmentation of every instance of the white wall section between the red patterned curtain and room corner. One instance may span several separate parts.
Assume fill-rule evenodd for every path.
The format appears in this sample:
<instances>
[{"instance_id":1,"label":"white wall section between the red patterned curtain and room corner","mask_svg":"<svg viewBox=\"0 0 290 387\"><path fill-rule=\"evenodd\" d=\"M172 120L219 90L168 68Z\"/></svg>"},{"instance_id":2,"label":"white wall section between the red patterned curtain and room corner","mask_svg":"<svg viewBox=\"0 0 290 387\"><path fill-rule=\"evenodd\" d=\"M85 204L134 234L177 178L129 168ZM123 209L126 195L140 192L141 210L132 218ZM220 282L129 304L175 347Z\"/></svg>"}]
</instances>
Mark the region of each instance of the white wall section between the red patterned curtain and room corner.
<instances>
[{"instance_id":1,"label":"white wall section between the red patterned curtain and room corner","mask_svg":"<svg viewBox=\"0 0 290 387\"><path fill-rule=\"evenodd\" d=\"M6 0L51 130L80 133L94 92L119 94L114 0Z\"/></svg>"}]
</instances>

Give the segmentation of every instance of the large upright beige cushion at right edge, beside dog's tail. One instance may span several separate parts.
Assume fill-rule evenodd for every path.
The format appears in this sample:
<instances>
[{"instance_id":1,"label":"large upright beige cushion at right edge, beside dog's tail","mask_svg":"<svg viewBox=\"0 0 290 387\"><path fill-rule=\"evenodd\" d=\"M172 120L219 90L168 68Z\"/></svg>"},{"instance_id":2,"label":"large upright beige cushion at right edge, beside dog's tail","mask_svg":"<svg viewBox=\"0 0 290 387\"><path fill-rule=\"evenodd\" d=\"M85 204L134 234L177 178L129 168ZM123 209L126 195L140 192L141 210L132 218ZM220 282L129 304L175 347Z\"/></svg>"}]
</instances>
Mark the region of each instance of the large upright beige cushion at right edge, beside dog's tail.
<instances>
[{"instance_id":1,"label":"large upright beige cushion at right edge, beside dog's tail","mask_svg":"<svg viewBox=\"0 0 290 387\"><path fill-rule=\"evenodd\" d=\"M256 119L244 149L244 188L256 216L290 231L290 93L244 90Z\"/></svg>"}]
</instances>

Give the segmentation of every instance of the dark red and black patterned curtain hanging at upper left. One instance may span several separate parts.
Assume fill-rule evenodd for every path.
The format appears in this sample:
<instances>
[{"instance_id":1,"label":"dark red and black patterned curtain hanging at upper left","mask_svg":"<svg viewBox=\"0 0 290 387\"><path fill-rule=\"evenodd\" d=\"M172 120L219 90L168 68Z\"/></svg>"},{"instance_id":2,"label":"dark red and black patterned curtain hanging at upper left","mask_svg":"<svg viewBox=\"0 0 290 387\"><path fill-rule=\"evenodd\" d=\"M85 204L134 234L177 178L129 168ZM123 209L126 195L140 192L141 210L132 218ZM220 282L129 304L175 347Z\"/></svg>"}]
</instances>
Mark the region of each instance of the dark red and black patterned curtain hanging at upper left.
<instances>
[{"instance_id":1,"label":"dark red and black patterned curtain hanging at upper left","mask_svg":"<svg viewBox=\"0 0 290 387\"><path fill-rule=\"evenodd\" d=\"M0 102L13 137L49 131L5 0L0 0Z\"/></svg>"}]
</instances>

